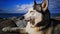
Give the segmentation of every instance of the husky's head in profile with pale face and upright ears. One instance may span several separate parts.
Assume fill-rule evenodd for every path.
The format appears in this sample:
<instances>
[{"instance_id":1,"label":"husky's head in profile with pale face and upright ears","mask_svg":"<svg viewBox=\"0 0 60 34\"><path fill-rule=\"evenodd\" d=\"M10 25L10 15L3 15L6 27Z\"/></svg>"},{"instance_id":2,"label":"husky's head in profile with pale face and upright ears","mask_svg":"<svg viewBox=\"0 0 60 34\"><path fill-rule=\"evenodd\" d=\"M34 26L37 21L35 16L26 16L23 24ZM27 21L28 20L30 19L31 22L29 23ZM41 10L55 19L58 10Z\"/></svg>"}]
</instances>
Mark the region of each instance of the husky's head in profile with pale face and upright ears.
<instances>
[{"instance_id":1,"label":"husky's head in profile with pale face and upright ears","mask_svg":"<svg viewBox=\"0 0 60 34\"><path fill-rule=\"evenodd\" d=\"M34 1L33 7L29 8L28 12L24 15L26 21L35 21L33 24L42 22L44 19L48 18L48 0L44 0L43 3L37 4ZM46 16L46 17L45 17Z\"/></svg>"}]
</instances>

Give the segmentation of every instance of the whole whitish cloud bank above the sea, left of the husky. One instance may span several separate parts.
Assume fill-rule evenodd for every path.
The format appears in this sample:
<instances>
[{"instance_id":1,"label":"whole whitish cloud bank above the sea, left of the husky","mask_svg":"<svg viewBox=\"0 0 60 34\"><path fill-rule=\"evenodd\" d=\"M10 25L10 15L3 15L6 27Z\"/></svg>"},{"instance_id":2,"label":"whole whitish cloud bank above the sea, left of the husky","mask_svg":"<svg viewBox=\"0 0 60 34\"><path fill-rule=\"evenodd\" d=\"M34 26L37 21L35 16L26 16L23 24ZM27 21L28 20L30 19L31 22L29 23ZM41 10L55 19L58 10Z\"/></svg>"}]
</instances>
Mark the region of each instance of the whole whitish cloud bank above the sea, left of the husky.
<instances>
[{"instance_id":1,"label":"whole whitish cloud bank above the sea, left of the husky","mask_svg":"<svg viewBox=\"0 0 60 34\"><path fill-rule=\"evenodd\" d=\"M26 13L33 6L33 3L16 5L14 8L0 10L0 13Z\"/></svg>"}]
</instances>

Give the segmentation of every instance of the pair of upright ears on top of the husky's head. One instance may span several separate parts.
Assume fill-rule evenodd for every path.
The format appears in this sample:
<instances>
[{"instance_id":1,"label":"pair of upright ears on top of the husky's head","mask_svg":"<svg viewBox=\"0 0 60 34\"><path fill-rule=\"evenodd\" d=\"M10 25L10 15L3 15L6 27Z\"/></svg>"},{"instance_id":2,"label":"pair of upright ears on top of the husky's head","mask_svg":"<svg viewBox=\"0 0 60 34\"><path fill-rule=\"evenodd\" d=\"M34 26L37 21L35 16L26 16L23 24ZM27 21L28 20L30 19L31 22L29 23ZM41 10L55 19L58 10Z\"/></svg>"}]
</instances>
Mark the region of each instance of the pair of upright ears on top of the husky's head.
<instances>
[{"instance_id":1,"label":"pair of upright ears on top of the husky's head","mask_svg":"<svg viewBox=\"0 0 60 34\"><path fill-rule=\"evenodd\" d=\"M37 11L43 11L45 12L48 8L48 0L44 0L42 3L37 4L36 1L34 1L34 9Z\"/></svg>"}]
</instances>

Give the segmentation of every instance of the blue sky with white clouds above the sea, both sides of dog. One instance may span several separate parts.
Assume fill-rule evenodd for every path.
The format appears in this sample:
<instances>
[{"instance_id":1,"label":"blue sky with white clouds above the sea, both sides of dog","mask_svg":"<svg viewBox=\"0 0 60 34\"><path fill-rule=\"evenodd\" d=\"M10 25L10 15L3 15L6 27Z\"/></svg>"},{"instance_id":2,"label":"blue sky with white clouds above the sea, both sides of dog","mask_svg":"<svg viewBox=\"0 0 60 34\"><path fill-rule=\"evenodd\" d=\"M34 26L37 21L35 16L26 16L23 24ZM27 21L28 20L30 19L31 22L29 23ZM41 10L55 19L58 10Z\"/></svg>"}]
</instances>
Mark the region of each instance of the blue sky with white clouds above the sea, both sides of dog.
<instances>
[{"instance_id":1,"label":"blue sky with white clouds above the sea, both sides of dog","mask_svg":"<svg viewBox=\"0 0 60 34\"><path fill-rule=\"evenodd\" d=\"M0 0L0 13L26 13L33 6L34 0ZM43 0L36 0L37 3ZM49 0L51 13L60 13L60 0Z\"/></svg>"}]
</instances>

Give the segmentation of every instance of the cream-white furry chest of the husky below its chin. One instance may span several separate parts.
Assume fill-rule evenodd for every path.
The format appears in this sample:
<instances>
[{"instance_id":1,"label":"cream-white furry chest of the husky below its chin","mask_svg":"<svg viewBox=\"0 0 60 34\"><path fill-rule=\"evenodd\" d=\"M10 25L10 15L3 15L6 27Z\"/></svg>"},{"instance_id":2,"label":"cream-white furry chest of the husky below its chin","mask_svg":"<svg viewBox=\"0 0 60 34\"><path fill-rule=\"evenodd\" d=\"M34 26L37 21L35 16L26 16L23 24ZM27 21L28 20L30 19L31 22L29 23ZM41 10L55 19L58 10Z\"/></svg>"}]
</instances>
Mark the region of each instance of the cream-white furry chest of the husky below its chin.
<instances>
[{"instance_id":1,"label":"cream-white furry chest of the husky below its chin","mask_svg":"<svg viewBox=\"0 0 60 34\"><path fill-rule=\"evenodd\" d=\"M43 34L43 31L39 31L39 28L32 28L29 22L26 26L26 31L29 34Z\"/></svg>"}]
</instances>

